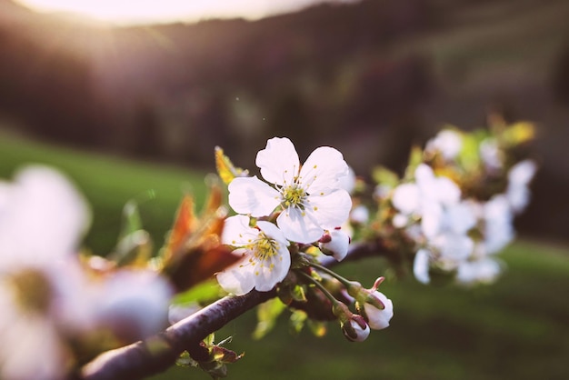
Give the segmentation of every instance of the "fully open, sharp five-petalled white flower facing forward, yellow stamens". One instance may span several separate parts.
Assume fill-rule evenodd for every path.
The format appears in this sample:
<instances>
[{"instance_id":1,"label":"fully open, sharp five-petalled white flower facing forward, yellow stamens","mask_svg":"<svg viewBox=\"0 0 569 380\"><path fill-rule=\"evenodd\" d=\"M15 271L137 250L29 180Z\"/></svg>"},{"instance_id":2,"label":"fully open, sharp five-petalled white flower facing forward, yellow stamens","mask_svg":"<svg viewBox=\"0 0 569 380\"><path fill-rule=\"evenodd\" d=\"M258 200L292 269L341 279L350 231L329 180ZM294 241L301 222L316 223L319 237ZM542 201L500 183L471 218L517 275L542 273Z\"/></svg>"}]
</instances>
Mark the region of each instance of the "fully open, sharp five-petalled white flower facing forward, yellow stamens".
<instances>
[{"instance_id":1,"label":"fully open, sharp five-petalled white flower facing forward, yellow stamens","mask_svg":"<svg viewBox=\"0 0 569 380\"><path fill-rule=\"evenodd\" d=\"M317 241L326 228L341 226L352 207L342 187L349 169L340 152L329 146L316 148L300 165L293 143L275 137L256 156L261 175L237 177L229 184L229 205L239 214L254 217L282 212L276 224L294 242Z\"/></svg>"}]
</instances>

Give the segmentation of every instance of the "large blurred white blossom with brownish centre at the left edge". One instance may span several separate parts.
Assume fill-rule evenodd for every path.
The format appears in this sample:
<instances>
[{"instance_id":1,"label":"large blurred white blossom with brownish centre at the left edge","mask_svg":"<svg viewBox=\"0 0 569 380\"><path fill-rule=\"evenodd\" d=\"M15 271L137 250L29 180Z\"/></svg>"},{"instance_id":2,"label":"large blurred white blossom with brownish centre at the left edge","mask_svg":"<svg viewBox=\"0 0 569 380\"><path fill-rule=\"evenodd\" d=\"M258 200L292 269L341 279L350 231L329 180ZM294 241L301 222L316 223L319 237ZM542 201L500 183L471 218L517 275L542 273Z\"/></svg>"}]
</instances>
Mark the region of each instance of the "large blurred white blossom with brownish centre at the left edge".
<instances>
[{"instance_id":1,"label":"large blurred white blossom with brownish centre at the left edge","mask_svg":"<svg viewBox=\"0 0 569 380\"><path fill-rule=\"evenodd\" d=\"M30 166L0 186L3 379L55 379L68 369L62 336L71 326L57 307L68 305L62 290L77 289L77 278L65 275L62 260L75 254L88 221L81 195L53 169Z\"/></svg>"}]
</instances>

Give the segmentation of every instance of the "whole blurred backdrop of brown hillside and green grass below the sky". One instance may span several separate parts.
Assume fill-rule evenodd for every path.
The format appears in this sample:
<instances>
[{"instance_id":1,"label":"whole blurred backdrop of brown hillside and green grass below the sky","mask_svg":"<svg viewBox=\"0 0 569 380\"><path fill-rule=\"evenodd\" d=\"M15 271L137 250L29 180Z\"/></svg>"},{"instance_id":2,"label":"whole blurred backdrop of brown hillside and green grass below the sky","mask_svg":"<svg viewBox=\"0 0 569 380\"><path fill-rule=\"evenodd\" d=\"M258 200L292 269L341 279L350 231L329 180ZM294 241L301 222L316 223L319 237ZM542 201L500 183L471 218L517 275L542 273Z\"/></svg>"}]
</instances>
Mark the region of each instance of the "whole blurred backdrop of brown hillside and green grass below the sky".
<instances>
[{"instance_id":1,"label":"whole blurred backdrop of brown hillside and green grass below the sky","mask_svg":"<svg viewBox=\"0 0 569 380\"><path fill-rule=\"evenodd\" d=\"M403 170L443 125L532 121L534 200L497 285L392 279L393 325L362 345L334 325L290 335L284 316L255 342L254 313L219 338L246 354L231 378L569 378L568 16L564 0L362 0L119 27L0 0L0 174L62 168L93 207L85 244L104 255L129 199L160 246L180 196L204 199L215 145L251 169L275 135L301 157L333 145L366 176ZM385 269L365 266L342 271L371 285ZM176 375L207 378L162 378Z\"/></svg>"}]
</instances>

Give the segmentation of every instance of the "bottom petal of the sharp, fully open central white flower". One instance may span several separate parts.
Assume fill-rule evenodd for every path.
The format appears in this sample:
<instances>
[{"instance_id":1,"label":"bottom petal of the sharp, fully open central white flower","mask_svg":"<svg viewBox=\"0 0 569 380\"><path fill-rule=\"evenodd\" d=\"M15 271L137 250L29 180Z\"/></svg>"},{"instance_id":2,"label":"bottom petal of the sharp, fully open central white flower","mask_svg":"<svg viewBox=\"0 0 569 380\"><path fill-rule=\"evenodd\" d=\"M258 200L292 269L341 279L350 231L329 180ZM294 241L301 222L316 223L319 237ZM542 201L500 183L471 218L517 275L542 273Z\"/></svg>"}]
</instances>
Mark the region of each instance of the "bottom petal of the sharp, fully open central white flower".
<instances>
[{"instance_id":1,"label":"bottom petal of the sharp, fully open central white flower","mask_svg":"<svg viewBox=\"0 0 569 380\"><path fill-rule=\"evenodd\" d=\"M324 228L314 218L297 208L285 209L276 218L276 224L288 240L296 243L314 243L324 232Z\"/></svg>"}]
</instances>

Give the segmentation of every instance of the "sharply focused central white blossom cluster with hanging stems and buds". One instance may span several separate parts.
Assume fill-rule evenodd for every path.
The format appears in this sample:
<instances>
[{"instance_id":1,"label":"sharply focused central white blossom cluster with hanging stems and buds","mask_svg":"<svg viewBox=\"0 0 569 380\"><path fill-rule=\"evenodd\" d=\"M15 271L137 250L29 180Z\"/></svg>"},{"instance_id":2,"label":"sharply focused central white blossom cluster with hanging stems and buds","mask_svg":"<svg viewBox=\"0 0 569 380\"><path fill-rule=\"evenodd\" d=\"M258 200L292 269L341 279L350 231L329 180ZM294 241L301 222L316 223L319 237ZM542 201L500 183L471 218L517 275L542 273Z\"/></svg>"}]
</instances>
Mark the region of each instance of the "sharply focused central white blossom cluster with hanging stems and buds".
<instances>
[{"instance_id":1,"label":"sharply focused central white blossom cluster with hanging stems and buds","mask_svg":"<svg viewBox=\"0 0 569 380\"><path fill-rule=\"evenodd\" d=\"M370 326L386 327L388 322L374 323L377 315L393 315L393 305L383 294L375 289L364 291L361 285L326 270L344 285L371 292L369 296L378 300L374 302L375 309L365 309L367 313L362 313L365 317L354 315L315 275L324 268L310 255L314 247L340 261L347 255L350 244L349 232L343 225L352 211L348 190L353 172L343 155L332 147L321 146L301 165L293 143L288 138L275 137L256 155L255 164L265 181L256 175L229 175L227 181L229 205L237 215L225 220L221 240L234 248L233 253L240 260L217 274L219 284L229 293L245 295L252 289L269 291L288 278L288 284L279 286L284 288L290 286L289 274L294 264L295 278L300 278L294 286L304 286L302 293L323 293L331 303L324 307L340 321L344 333L349 331L346 334L349 339L364 340ZM227 177L226 173L222 176ZM296 307L306 307L303 304L307 300L300 301ZM361 304L367 305L365 301Z\"/></svg>"}]
</instances>

